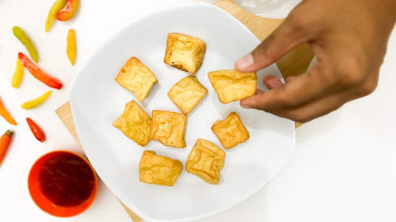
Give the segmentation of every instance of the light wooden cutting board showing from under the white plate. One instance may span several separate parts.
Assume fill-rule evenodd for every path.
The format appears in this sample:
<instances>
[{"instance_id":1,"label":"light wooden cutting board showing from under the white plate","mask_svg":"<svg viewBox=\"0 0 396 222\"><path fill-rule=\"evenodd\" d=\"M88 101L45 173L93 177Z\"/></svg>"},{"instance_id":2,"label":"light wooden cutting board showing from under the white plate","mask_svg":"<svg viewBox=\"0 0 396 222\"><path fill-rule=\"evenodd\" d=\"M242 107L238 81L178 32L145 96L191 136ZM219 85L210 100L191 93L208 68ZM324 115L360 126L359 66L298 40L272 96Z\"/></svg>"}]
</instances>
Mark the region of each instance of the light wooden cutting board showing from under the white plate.
<instances>
[{"instance_id":1,"label":"light wooden cutting board showing from under the white plate","mask_svg":"<svg viewBox=\"0 0 396 222\"><path fill-rule=\"evenodd\" d=\"M223 9L230 15L237 18L240 22L242 22L247 28L249 28L260 41L263 41L267 38L271 32L277 28L284 19L271 19L271 18L263 18L260 16L256 16L242 9L232 0L219 0L214 4L215 6ZM310 64L313 58L313 53L308 45L304 44L293 51L285 55L282 59L277 62L277 65L282 73L284 79L289 76L296 76L300 73L303 73L307 70L308 65ZM76 139L78 144L81 146L80 140L77 136L76 128L73 122L72 111L70 108L70 103L67 102L63 104L61 107L56 109L56 114L63 122L63 124L67 127L69 132ZM301 124L296 123L295 127L299 127ZM122 204L122 203L121 203ZM142 219L136 215L133 211L128 209L124 204L122 206L125 208L129 216L133 221L139 222Z\"/></svg>"}]
</instances>

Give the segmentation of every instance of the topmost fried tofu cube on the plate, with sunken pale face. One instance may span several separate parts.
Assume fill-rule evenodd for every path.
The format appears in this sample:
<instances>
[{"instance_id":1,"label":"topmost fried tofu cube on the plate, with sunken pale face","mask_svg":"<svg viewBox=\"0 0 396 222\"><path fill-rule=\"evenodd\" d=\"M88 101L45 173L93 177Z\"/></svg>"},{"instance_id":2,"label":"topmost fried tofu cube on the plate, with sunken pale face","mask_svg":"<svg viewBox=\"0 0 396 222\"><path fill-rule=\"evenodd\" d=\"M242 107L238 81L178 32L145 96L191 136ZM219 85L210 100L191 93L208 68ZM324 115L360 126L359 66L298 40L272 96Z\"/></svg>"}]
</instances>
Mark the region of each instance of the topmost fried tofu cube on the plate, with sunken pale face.
<instances>
[{"instance_id":1,"label":"topmost fried tofu cube on the plate, with sunken pale face","mask_svg":"<svg viewBox=\"0 0 396 222\"><path fill-rule=\"evenodd\" d=\"M195 74L204 61L206 44L197 38L169 33L163 62L183 71Z\"/></svg>"}]
</instances>

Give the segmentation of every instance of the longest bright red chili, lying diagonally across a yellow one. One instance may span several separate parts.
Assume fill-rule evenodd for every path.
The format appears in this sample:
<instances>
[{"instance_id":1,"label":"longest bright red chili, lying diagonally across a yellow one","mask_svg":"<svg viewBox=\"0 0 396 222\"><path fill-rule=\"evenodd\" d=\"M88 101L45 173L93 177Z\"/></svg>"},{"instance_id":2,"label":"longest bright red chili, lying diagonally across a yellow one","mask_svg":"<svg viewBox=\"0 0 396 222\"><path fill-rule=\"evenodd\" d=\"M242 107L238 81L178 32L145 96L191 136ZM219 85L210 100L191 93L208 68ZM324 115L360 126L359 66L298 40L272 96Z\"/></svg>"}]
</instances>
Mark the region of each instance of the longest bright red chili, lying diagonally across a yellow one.
<instances>
[{"instance_id":1,"label":"longest bright red chili, lying diagonally across a yellow one","mask_svg":"<svg viewBox=\"0 0 396 222\"><path fill-rule=\"evenodd\" d=\"M34 63L32 63L23 53L18 53L19 60L21 60L23 66L33 75L36 79L43 82L45 85L60 89L62 88L63 84L56 78L51 77L39 67L37 67Z\"/></svg>"}]
</instances>

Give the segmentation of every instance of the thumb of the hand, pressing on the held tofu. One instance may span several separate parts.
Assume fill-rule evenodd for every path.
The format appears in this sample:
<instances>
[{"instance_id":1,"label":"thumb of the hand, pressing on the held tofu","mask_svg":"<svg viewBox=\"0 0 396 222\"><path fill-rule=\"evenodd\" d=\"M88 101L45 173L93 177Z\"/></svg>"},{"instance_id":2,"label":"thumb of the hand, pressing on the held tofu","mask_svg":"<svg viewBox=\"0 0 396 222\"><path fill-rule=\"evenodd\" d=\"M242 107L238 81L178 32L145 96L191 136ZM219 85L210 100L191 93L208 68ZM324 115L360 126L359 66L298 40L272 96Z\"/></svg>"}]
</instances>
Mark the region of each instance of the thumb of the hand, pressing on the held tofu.
<instances>
[{"instance_id":1,"label":"thumb of the hand, pressing on the held tofu","mask_svg":"<svg viewBox=\"0 0 396 222\"><path fill-rule=\"evenodd\" d=\"M293 19L295 16L293 16ZM308 41L305 29L288 16L264 41L252 52L240 58L234 66L238 71L258 71L273 64L296 46Z\"/></svg>"}]
</instances>

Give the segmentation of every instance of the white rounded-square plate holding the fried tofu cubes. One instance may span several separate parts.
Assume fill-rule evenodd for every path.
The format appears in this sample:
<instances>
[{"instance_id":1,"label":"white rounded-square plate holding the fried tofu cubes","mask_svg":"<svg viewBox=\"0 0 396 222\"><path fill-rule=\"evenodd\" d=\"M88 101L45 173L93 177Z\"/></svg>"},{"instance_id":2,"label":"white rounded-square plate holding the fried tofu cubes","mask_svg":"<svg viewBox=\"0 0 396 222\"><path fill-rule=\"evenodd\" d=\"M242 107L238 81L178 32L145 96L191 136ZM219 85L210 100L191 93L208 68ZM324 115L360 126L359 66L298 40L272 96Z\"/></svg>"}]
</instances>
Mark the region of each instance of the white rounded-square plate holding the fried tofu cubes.
<instances>
[{"instance_id":1,"label":"white rounded-square plate holding the fried tofu cubes","mask_svg":"<svg viewBox=\"0 0 396 222\"><path fill-rule=\"evenodd\" d=\"M153 109L180 113L167 93L189 73L163 63L169 32L188 34L207 44L203 66L195 76L209 92L188 115L186 148L175 149L158 141L141 147L112 126L123 113L124 105L132 99L137 101L135 95L119 86L114 78L131 56L139 58L159 81L141 103L143 109L150 116ZM222 104L208 80L209 71L234 68L234 62L257 44L257 38L234 17L213 5L194 4L162 11L130 24L98 49L76 75L70 102L84 151L109 189L143 219L188 221L229 209L265 186L291 157L295 146L292 121L243 109L239 102ZM263 90L267 89L261 79L267 74L281 78L275 64L258 72L258 87ZM178 159L185 167L197 138L222 147L211 126L233 111L240 115L250 139L226 150L217 186L184 169L173 187L139 181L138 166L144 150Z\"/></svg>"}]
</instances>

